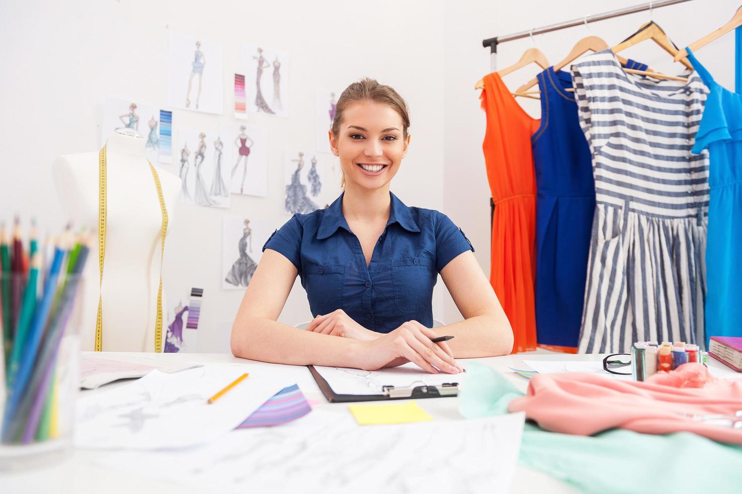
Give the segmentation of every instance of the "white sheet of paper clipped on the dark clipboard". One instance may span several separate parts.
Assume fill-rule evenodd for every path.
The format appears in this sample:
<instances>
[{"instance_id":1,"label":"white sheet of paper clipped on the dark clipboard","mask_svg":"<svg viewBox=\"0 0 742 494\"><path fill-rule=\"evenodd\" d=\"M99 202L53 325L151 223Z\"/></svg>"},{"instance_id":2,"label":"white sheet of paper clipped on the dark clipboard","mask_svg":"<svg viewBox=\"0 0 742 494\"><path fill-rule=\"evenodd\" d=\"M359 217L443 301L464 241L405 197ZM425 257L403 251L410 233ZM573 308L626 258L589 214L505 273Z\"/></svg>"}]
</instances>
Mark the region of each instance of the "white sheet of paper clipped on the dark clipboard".
<instances>
[{"instance_id":1,"label":"white sheet of paper clipped on the dark clipboard","mask_svg":"<svg viewBox=\"0 0 742 494\"><path fill-rule=\"evenodd\" d=\"M461 365L461 363L459 363ZM463 365L462 365L463 367ZM464 382L465 372L459 374L430 374L413 363L381 369L361 371L358 368L318 367L315 369L325 378L336 394L381 394L382 386L440 386L444 383Z\"/></svg>"}]
</instances>

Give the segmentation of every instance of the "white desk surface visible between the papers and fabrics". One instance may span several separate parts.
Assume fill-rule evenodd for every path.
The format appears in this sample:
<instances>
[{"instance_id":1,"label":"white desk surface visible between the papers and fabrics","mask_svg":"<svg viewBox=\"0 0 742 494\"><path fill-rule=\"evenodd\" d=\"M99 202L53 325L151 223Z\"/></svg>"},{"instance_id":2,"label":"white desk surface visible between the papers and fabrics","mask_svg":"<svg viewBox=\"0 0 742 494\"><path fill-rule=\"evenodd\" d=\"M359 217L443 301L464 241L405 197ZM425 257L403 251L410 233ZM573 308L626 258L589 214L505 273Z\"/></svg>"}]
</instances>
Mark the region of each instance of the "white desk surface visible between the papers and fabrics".
<instances>
[{"instance_id":1,"label":"white desk surface visible between the papers and fabrics","mask_svg":"<svg viewBox=\"0 0 742 494\"><path fill-rule=\"evenodd\" d=\"M90 352L92 353L92 352ZM102 352L95 354L98 358L126 360L127 356L137 354ZM229 354L159 354L159 358L167 361L192 363L249 363L249 360L238 359ZM601 360L602 355L565 355L565 354L517 354L504 357L489 357L470 359L485 363L498 371L505 372L519 389L525 391L528 380L510 371L513 368L528 368L523 360ZM709 357L709 367L724 368L722 364ZM286 367L286 366L283 366ZM318 400L318 407L338 414L347 414L347 403L327 403L324 395L318 388L315 380L306 368L295 367L297 384L307 400ZM122 386L125 383L112 383L102 389L111 389L111 386ZM98 390L82 391L95 393ZM461 419L457 398L439 398L434 400L418 400L418 405L433 418ZM300 419L301 420L301 419ZM105 493L197 493L201 490L183 487L180 484L169 484L153 478L129 473L122 470L106 469L93 464L92 459L105 455L105 452L76 449L68 458L52 467L33 469L13 474L0 474L0 491L3 493L70 493L70 494L99 494ZM541 472L518 465L515 481L511 493L575 493L572 487L557 481ZM442 494L442 493L441 493Z\"/></svg>"}]
</instances>

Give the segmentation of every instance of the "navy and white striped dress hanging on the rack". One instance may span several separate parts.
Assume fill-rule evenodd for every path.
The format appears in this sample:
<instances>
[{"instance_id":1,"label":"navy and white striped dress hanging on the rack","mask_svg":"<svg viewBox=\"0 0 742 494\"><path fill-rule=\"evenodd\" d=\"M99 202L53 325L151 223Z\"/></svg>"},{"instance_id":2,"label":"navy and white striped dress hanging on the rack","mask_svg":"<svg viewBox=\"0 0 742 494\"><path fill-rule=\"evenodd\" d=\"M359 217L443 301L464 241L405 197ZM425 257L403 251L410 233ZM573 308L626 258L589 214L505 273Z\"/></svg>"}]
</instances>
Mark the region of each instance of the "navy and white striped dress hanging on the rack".
<instances>
[{"instance_id":1,"label":"navy and white striped dress hanging on the rack","mask_svg":"<svg viewBox=\"0 0 742 494\"><path fill-rule=\"evenodd\" d=\"M572 66L596 206L580 353L703 342L709 159L692 155L708 88L627 74L614 53Z\"/></svg>"}]
</instances>

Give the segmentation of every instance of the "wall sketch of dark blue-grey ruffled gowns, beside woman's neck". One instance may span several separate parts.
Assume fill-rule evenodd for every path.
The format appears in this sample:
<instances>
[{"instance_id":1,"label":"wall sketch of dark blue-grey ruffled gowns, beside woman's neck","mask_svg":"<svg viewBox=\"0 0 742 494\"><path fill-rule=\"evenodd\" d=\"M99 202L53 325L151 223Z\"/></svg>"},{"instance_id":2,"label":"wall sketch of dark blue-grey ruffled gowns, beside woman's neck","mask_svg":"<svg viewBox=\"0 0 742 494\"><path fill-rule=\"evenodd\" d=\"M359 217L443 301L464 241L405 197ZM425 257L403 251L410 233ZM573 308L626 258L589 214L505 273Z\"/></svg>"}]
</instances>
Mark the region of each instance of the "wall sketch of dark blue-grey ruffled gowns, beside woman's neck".
<instances>
[{"instance_id":1,"label":"wall sketch of dark blue-grey ruffled gowns, beside woman's neck","mask_svg":"<svg viewBox=\"0 0 742 494\"><path fill-rule=\"evenodd\" d=\"M335 156L287 149L285 160L284 212L306 214L338 198L341 173Z\"/></svg>"}]
</instances>

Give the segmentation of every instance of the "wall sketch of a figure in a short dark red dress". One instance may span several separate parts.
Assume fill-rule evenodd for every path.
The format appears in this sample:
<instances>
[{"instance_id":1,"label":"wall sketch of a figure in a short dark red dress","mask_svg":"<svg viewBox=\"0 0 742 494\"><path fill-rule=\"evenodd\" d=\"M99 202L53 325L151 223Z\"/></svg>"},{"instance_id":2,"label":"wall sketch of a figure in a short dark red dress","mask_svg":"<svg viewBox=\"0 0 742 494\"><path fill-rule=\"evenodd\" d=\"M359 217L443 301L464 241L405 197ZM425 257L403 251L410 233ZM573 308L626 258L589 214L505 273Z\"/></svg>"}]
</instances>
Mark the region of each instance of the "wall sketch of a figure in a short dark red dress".
<instances>
[{"instance_id":1,"label":"wall sketch of a figure in a short dark red dress","mask_svg":"<svg viewBox=\"0 0 742 494\"><path fill-rule=\"evenodd\" d=\"M232 194L268 195L268 131L231 122L223 125L226 176Z\"/></svg>"}]
</instances>

